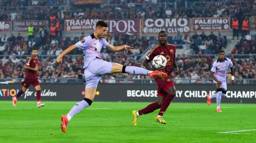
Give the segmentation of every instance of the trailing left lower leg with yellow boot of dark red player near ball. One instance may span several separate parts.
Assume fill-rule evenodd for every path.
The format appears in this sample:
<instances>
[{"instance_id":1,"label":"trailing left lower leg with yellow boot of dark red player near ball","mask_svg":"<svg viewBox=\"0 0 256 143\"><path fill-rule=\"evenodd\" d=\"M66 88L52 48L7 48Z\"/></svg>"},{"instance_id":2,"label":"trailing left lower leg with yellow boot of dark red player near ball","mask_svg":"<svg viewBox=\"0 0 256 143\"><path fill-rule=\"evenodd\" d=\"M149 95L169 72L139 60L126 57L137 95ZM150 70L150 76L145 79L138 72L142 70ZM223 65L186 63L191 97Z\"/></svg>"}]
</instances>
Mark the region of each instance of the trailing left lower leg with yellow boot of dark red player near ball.
<instances>
[{"instance_id":1,"label":"trailing left lower leg with yellow boot of dark red player near ball","mask_svg":"<svg viewBox=\"0 0 256 143\"><path fill-rule=\"evenodd\" d=\"M147 107L139 110L139 111L132 111L132 116L133 116L133 120L132 120L132 123L133 123L133 126L136 126L137 125L137 119L140 115L142 114L148 114L148 113L151 113L153 111L155 111L156 109L159 109L161 108L161 105L159 105L157 102L155 103L151 103L149 104Z\"/></svg>"}]
</instances>

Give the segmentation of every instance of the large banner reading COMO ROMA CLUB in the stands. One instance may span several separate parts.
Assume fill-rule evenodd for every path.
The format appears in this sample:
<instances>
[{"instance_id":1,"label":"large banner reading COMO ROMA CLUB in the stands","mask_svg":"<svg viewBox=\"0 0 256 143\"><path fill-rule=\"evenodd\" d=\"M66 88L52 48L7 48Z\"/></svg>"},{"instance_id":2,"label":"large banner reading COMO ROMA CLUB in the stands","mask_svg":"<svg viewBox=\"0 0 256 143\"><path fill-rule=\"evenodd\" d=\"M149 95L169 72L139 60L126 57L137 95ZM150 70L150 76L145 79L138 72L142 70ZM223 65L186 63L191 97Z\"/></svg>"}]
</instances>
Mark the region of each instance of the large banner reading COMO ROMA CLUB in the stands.
<instances>
[{"instance_id":1,"label":"large banner reading COMO ROMA CLUB in the stands","mask_svg":"<svg viewBox=\"0 0 256 143\"><path fill-rule=\"evenodd\" d=\"M143 19L142 34L156 35L162 30L168 34L189 32L190 19Z\"/></svg>"}]
</instances>

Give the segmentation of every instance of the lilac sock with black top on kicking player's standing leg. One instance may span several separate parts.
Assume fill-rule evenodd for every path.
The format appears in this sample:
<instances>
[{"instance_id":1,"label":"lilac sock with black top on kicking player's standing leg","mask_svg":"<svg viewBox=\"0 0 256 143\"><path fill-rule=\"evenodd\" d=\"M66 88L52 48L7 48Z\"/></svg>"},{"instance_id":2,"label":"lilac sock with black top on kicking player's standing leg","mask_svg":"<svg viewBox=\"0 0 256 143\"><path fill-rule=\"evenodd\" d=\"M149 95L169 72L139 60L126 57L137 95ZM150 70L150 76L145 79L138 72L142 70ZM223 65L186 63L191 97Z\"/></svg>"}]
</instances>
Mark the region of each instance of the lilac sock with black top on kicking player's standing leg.
<instances>
[{"instance_id":1,"label":"lilac sock with black top on kicking player's standing leg","mask_svg":"<svg viewBox=\"0 0 256 143\"><path fill-rule=\"evenodd\" d=\"M69 116L71 119L75 114L79 113L81 110L85 109L91 104L92 104L92 101L88 98L85 98L84 100L76 103L74 107L69 111L69 113L67 113L67 116Z\"/></svg>"}]
</instances>

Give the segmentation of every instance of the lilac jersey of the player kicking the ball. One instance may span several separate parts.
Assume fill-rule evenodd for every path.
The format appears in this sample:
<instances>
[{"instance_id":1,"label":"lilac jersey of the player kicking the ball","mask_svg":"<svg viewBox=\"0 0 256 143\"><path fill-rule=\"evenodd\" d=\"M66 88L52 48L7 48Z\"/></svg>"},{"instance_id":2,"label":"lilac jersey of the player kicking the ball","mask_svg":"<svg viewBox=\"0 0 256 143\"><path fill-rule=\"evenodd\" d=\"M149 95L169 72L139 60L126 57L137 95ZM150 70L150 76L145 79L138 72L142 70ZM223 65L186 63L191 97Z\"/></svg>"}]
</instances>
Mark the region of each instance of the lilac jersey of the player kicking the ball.
<instances>
[{"instance_id":1,"label":"lilac jersey of the player kicking the ball","mask_svg":"<svg viewBox=\"0 0 256 143\"><path fill-rule=\"evenodd\" d=\"M83 59L85 61L83 68L85 69L90 61L100 58L100 50L106 48L109 43L104 39L96 39L92 34L90 36L84 37L81 41L77 42L75 45L78 49L83 50Z\"/></svg>"}]
</instances>

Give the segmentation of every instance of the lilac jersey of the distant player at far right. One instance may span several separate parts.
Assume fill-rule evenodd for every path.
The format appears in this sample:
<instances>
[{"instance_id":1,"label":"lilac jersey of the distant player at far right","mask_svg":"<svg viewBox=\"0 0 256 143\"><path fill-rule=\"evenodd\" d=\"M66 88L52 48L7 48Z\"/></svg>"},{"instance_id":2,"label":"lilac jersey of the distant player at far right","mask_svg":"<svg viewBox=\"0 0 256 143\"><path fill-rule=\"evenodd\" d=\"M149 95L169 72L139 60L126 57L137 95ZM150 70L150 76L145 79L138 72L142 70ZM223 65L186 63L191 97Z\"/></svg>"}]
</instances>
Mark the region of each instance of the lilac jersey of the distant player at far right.
<instances>
[{"instance_id":1,"label":"lilac jersey of the distant player at far right","mask_svg":"<svg viewBox=\"0 0 256 143\"><path fill-rule=\"evenodd\" d=\"M223 77L224 79L226 79L228 67L232 66L233 63L230 59L225 58L224 62L220 62L220 60L218 59L213 63L211 71L215 72L214 76Z\"/></svg>"}]
</instances>

